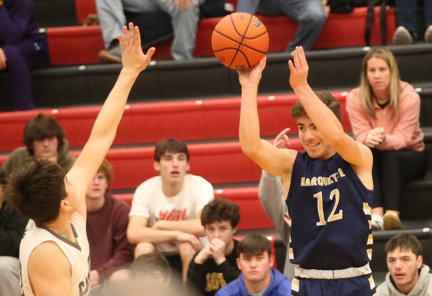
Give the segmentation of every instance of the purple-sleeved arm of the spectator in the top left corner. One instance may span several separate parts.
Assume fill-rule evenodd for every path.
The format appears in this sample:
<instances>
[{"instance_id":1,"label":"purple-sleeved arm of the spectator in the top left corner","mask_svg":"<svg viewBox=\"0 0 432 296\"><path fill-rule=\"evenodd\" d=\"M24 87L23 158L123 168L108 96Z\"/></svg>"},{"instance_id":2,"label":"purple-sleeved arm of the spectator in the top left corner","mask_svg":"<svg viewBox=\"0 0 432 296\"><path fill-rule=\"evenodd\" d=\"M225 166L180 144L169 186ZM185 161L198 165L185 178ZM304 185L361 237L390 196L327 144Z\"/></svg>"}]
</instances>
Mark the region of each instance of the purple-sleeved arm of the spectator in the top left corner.
<instances>
[{"instance_id":1,"label":"purple-sleeved arm of the spectator in the top left corner","mask_svg":"<svg viewBox=\"0 0 432 296\"><path fill-rule=\"evenodd\" d=\"M35 1L15 0L20 2L18 11L10 16L6 5L0 5L0 40L6 44L17 43L24 35L25 28L35 12Z\"/></svg>"}]
</instances>

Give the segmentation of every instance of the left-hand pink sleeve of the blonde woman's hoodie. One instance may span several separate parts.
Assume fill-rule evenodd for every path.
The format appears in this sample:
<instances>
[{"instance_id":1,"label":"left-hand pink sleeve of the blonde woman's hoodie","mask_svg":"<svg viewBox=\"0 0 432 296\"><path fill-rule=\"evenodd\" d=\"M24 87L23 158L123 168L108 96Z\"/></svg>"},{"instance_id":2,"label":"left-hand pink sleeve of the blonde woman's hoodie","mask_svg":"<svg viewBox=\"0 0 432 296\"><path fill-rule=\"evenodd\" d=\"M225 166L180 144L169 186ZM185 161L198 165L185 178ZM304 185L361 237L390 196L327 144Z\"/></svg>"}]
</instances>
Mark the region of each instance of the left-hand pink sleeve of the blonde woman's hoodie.
<instances>
[{"instance_id":1,"label":"left-hand pink sleeve of the blonde woman's hoodie","mask_svg":"<svg viewBox=\"0 0 432 296\"><path fill-rule=\"evenodd\" d=\"M372 129L369 119L364 113L359 96L351 91L346 97L346 111L349 123L353 129L354 138L357 142L365 143L368 132Z\"/></svg>"}]
</instances>

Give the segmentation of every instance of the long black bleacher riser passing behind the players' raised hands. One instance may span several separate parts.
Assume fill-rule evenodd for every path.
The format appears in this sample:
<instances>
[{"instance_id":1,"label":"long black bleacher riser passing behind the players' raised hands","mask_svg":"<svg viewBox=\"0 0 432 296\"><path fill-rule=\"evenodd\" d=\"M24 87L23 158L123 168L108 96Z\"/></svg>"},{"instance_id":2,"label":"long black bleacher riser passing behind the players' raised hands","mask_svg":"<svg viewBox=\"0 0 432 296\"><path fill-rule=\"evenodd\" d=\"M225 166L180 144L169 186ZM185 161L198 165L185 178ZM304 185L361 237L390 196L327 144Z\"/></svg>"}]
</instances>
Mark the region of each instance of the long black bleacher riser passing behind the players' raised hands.
<instances>
[{"instance_id":1,"label":"long black bleacher riser passing behind the players' raised hands","mask_svg":"<svg viewBox=\"0 0 432 296\"><path fill-rule=\"evenodd\" d=\"M397 57L403 80L432 81L432 44L389 46ZM308 82L313 88L351 88L359 83L361 47L312 50L307 53ZM288 53L267 55L260 93L292 91L289 87ZM330 70L331 69L331 70ZM60 107L102 103L121 70L121 65L86 65L38 69L33 86L38 107ZM0 75L0 93L8 88L6 74ZM129 101L171 98L203 98L239 95L238 75L215 57L191 61L158 60L140 74ZM0 110L13 109L12 100L1 100Z\"/></svg>"}]
</instances>

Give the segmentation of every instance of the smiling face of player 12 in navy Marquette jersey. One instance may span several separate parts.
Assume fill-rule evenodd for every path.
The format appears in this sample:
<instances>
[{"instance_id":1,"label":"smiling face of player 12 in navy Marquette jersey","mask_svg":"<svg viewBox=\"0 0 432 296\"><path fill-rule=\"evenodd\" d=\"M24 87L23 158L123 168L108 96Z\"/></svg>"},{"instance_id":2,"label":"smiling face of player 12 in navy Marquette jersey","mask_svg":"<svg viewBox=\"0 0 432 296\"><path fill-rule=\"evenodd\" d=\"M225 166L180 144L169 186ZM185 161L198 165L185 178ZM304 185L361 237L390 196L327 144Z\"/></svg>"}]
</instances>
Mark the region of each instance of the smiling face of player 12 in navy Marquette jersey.
<instances>
[{"instance_id":1,"label":"smiling face of player 12 in navy Marquette jersey","mask_svg":"<svg viewBox=\"0 0 432 296\"><path fill-rule=\"evenodd\" d=\"M297 126L299 127L299 139L309 157L327 159L334 155L334 148L324 140L310 118L299 117Z\"/></svg>"}]
</instances>

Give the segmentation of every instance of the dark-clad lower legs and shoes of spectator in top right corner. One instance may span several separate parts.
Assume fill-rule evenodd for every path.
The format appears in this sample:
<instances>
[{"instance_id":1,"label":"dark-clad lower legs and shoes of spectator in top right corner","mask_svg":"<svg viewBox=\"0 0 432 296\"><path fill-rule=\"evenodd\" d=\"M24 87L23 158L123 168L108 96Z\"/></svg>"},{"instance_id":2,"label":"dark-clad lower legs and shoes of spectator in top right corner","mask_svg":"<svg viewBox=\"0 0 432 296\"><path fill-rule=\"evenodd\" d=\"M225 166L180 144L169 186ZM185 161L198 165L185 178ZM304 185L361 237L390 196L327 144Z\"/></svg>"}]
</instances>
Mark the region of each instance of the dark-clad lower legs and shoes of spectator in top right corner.
<instances>
[{"instance_id":1,"label":"dark-clad lower legs and shoes of spectator in top right corner","mask_svg":"<svg viewBox=\"0 0 432 296\"><path fill-rule=\"evenodd\" d=\"M432 0L424 0L426 32L425 41L432 42ZM417 1L396 0L398 27L393 34L394 44L413 44L418 40Z\"/></svg>"}]
</instances>

